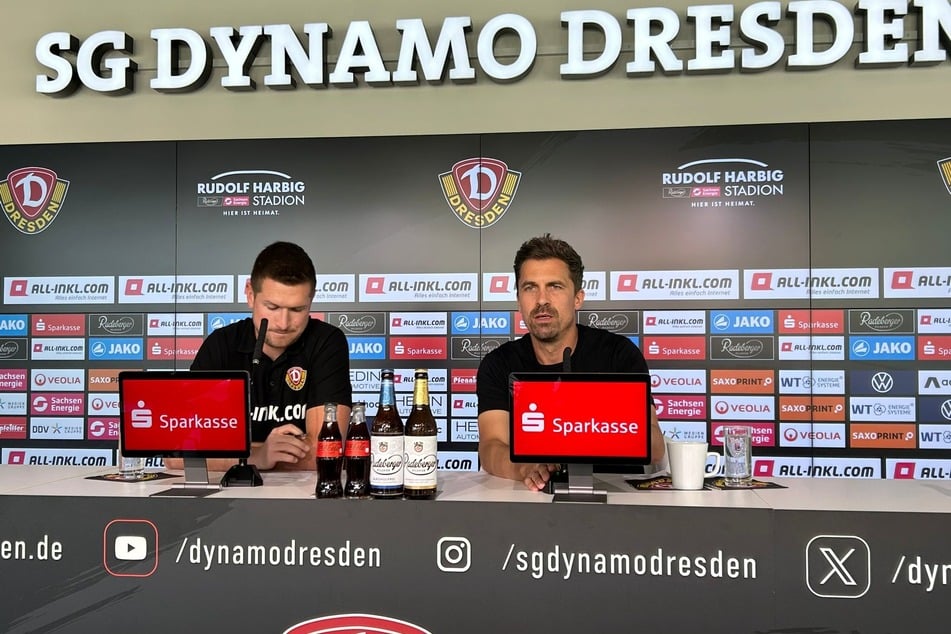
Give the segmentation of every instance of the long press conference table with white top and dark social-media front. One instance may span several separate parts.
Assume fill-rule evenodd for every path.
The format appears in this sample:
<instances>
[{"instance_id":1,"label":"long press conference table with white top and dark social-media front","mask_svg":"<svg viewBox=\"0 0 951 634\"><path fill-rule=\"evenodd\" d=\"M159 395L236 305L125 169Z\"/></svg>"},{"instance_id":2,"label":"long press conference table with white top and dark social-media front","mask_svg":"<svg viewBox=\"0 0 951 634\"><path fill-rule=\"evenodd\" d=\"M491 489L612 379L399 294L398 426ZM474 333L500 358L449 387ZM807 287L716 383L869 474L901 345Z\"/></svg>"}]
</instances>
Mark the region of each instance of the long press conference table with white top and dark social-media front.
<instances>
[{"instance_id":1,"label":"long press conference table with white top and dark social-media front","mask_svg":"<svg viewBox=\"0 0 951 634\"><path fill-rule=\"evenodd\" d=\"M603 475L607 504L552 504L484 473L409 502L315 500L312 473L203 498L88 479L110 471L0 466L0 631L302 634L359 614L397 625L334 631L867 634L951 616L947 481Z\"/></svg>"}]
</instances>

